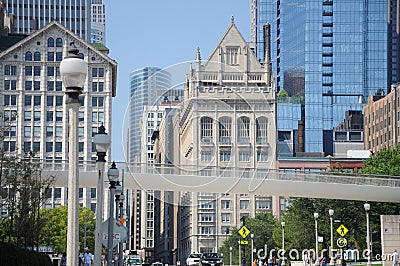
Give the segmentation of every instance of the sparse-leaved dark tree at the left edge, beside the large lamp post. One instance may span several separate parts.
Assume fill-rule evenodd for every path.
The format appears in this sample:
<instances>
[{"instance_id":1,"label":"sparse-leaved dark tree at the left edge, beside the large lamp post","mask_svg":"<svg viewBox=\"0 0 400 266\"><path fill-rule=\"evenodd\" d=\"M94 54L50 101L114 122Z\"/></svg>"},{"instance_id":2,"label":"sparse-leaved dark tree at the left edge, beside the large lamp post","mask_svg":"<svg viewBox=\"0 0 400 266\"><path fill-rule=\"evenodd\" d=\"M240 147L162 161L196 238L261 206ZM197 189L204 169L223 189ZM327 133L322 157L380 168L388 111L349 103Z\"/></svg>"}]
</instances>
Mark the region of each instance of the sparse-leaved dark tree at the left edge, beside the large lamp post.
<instances>
[{"instance_id":1,"label":"sparse-leaved dark tree at the left edge, beside the large lamp post","mask_svg":"<svg viewBox=\"0 0 400 266\"><path fill-rule=\"evenodd\" d=\"M21 155L10 149L16 115L0 117L0 122L0 208L5 211L0 216L0 239L19 247L35 247L43 228L40 212L45 193L54 177L42 174L32 152Z\"/></svg>"}]
</instances>

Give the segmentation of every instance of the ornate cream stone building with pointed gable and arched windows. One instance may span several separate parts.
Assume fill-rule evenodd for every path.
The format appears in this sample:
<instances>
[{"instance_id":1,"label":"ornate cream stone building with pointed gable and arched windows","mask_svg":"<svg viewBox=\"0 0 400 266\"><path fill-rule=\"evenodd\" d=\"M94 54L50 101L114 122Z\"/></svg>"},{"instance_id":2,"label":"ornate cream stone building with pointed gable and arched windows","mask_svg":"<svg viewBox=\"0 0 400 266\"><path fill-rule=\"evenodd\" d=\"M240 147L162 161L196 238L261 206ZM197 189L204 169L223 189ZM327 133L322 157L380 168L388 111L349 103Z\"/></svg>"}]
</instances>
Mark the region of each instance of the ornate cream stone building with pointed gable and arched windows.
<instances>
[{"instance_id":1,"label":"ornate cream stone building with pointed gable and arched windows","mask_svg":"<svg viewBox=\"0 0 400 266\"><path fill-rule=\"evenodd\" d=\"M175 117L180 145L174 165L199 175L251 178L276 167L276 99L272 70L261 64L232 23L207 61L196 53ZM175 124L175 123L174 123ZM274 211L268 195L184 193L179 207L179 254L217 252L242 217Z\"/></svg>"}]
</instances>

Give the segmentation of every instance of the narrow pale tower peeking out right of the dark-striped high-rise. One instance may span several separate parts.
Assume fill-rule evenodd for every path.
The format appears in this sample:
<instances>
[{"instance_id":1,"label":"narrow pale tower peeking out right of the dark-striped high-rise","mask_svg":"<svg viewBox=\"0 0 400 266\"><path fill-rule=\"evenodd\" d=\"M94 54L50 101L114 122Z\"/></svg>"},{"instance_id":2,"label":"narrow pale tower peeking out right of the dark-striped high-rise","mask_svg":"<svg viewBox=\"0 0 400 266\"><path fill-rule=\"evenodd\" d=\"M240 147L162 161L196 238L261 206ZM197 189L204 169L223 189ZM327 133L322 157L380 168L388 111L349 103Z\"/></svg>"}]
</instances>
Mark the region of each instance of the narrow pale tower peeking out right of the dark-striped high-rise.
<instances>
[{"instance_id":1,"label":"narrow pale tower peeking out right of the dark-striped high-rise","mask_svg":"<svg viewBox=\"0 0 400 266\"><path fill-rule=\"evenodd\" d=\"M90 42L106 42L106 10L104 0L91 0Z\"/></svg>"}]
</instances>

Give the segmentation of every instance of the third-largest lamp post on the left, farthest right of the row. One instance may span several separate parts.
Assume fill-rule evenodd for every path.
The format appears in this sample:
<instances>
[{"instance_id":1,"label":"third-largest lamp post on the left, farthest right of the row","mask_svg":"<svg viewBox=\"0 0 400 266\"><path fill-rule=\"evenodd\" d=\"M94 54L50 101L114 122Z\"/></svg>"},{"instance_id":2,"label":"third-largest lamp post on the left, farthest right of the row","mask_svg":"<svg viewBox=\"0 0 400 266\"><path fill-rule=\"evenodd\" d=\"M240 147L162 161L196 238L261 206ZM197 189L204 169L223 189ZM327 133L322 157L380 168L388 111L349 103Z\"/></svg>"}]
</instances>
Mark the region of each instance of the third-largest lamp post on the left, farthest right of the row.
<instances>
[{"instance_id":1,"label":"third-largest lamp post on the left, farthest right of the row","mask_svg":"<svg viewBox=\"0 0 400 266\"><path fill-rule=\"evenodd\" d=\"M112 163L111 168L108 169L108 180L110 181L110 217L108 218L108 253L107 253L107 265L111 265L112 257L113 257L113 225L114 225L114 192L115 192L115 184L118 180L118 169L115 165L115 162Z\"/></svg>"}]
</instances>

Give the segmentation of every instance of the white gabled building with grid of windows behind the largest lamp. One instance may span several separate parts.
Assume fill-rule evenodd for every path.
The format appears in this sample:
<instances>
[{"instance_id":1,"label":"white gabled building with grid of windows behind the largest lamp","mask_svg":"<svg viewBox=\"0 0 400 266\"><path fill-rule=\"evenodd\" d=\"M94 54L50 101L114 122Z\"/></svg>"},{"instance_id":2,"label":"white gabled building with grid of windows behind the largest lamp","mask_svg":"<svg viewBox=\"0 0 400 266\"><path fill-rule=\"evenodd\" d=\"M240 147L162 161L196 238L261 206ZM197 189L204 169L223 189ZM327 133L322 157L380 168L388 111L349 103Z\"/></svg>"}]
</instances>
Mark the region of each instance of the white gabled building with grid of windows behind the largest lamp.
<instances>
[{"instance_id":1,"label":"white gabled building with grid of windows behind the largest lamp","mask_svg":"<svg viewBox=\"0 0 400 266\"><path fill-rule=\"evenodd\" d=\"M108 50L97 50L58 22L20 40L2 36L9 47L0 53L0 123L10 131L4 142L7 153L24 156L34 152L34 160L46 167L68 169L68 110L60 77L60 61L74 42L88 63L88 75L79 108L78 147L80 171L95 165L97 156L92 137L104 124L111 135L112 98L116 95L117 64ZM14 42L12 43L12 41ZM103 46L102 46L103 47ZM4 121L4 120L5 121ZM110 161L111 151L107 152ZM79 202L96 210L96 188L80 188ZM67 204L67 188L51 191L46 208Z\"/></svg>"}]
</instances>

